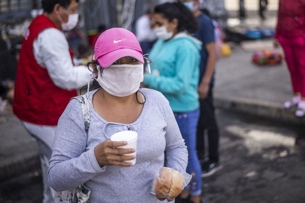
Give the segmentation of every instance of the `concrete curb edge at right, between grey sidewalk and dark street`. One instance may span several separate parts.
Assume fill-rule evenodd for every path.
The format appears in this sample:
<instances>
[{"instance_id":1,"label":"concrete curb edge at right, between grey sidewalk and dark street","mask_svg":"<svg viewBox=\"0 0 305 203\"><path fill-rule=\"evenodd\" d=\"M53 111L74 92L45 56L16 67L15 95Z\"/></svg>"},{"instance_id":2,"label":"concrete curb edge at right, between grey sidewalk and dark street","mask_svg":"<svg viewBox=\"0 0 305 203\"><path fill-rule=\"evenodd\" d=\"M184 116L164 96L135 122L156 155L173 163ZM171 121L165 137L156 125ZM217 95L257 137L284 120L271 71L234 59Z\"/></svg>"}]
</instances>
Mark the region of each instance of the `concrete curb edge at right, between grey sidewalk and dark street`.
<instances>
[{"instance_id":1,"label":"concrete curb edge at right, between grey sidewalk and dark street","mask_svg":"<svg viewBox=\"0 0 305 203\"><path fill-rule=\"evenodd\" d=\"M224 97L215 94L214 104L216 108L248 113L280 122L289 122L297 125L305 124L305 117L295 117L295 109L284 109L282 104L275 102L240 97Z\"/></svg>"}]
</instances>

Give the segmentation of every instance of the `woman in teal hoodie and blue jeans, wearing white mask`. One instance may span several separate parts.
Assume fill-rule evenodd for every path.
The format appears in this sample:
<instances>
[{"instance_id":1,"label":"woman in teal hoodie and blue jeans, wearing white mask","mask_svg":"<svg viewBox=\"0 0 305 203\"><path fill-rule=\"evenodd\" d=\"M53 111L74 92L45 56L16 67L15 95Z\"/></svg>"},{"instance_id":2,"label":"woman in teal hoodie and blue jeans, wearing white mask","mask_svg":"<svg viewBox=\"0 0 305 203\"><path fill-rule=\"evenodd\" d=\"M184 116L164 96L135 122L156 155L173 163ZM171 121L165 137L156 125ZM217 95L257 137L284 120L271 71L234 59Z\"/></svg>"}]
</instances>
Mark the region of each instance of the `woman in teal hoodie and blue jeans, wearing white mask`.
<instances>
[{"instance_id":1,"label":"woman in teal hoodie and blue jeans, wearing white mask","mask_svg":"<svg viewBox=\"0 0 305 203\"><path fill-rule=\"evenodd\" d=\"M196 153L196 129L202 43L189 34L196 31L197 21L180 2L165 3L155 7L153 27L159 39L149 54L152 74L144 76L143 84L162 92L169 101L189 152L186 171L193 175L181 198L190 194L191 202L199 203L201 166Z\"/></svg>"}]
</instances>

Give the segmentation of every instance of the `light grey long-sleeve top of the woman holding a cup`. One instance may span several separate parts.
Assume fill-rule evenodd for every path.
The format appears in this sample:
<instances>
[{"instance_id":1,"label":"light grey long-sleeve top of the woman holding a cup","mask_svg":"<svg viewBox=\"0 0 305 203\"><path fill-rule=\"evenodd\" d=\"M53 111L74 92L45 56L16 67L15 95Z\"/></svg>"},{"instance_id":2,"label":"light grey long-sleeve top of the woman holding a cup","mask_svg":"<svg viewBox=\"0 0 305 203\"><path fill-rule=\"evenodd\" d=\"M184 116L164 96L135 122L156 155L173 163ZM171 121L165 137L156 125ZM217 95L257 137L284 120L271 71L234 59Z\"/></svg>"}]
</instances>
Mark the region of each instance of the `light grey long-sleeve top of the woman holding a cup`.
<instances>
[{"instance_id":1,"label":"light grey long-sleeve top of the woman holding a cup","mask_svg":"<svg viewBox=\"0 0 305 203\"><path fill-rule=\"evenodd\" d=\"M95 92L88 93L91 102ZM164 165L185 172L188 152L167 99L155 90L141 92L146 103L139 118L128 125L107 122L90 104L88 133L79 101L70 101L59 118L48 171L55 191L85 183L91 190L90 203L160 202L150 193L154 174ZM138 133L136 164L100 167L94 147L128 128Z\"/></svg>"}]
</instances>

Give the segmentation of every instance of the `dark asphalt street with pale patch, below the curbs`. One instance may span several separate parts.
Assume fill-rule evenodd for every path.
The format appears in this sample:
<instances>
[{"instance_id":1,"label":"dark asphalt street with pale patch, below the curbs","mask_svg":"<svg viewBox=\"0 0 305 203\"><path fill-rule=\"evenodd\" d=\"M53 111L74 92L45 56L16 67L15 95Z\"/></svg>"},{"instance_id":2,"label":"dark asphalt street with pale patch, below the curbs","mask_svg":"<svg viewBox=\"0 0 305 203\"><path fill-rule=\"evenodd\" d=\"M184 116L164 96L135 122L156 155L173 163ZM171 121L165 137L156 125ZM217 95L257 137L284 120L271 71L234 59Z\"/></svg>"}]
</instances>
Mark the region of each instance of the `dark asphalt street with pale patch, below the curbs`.
<instances>
[{"instance_id":1,"label":"dark asphalt street with pale patch, below the curbs","mask_svg":"<svg viewBox=\"0 0 305 203\"><path fill-rule=\"evenodd\" d=\"M305 129L216 112L223 169L203 179L204 203L305 202ZM0 182L1 203L36 203L41 199L39 168Z\"/></svg>"}]
</instances>

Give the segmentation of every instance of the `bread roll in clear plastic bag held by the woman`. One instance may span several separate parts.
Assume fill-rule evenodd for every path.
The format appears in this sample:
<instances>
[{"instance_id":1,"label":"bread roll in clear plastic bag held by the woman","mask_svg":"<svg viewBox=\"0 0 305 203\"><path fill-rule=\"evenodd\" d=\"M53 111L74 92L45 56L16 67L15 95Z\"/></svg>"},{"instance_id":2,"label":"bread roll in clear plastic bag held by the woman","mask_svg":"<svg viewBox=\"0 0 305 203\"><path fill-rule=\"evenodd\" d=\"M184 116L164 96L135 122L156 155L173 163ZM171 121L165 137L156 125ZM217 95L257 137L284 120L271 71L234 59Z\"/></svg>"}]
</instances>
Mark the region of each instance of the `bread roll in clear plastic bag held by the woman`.
<instances>
[{"instance_id":1,"label":"bread roll in clear plastic bag held by the woman","mask_svg":"<svg viewBox=\"0 0 305 203\"><path fill-rule=\"evenodd\" d=\"M189 184L191 178L188 173L163 167L155 174L151 193L161 198L175 198Z\"/></svg>"}]
</instances>

